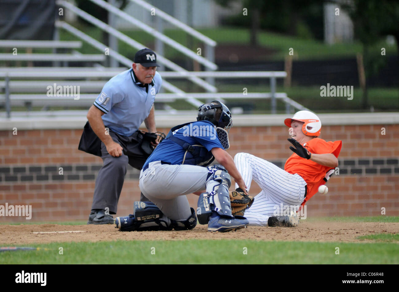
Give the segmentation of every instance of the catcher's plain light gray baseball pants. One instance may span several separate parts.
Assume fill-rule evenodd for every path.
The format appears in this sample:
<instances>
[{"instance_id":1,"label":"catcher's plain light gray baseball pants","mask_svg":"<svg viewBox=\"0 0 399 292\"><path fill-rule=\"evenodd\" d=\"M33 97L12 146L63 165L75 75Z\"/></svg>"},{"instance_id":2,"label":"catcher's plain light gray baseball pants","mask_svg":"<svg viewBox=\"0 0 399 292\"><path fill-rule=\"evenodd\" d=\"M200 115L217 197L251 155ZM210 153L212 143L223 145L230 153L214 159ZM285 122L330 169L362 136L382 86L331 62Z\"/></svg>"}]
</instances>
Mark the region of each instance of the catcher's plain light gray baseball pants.
<instances>
[{"instance_id":1,"label":"catcher's plain light gray baseball pants","mask_svg":"<svg viewBox=\"0 0 399 292\"><path fill-rule=\"evenodd\" d=\"M206 167L196 165L162 165L150 163L140 172L140 190L168 218L186 221L191 216L185 195L205 190L208 175Z\"/></svg>"}]
</instances>

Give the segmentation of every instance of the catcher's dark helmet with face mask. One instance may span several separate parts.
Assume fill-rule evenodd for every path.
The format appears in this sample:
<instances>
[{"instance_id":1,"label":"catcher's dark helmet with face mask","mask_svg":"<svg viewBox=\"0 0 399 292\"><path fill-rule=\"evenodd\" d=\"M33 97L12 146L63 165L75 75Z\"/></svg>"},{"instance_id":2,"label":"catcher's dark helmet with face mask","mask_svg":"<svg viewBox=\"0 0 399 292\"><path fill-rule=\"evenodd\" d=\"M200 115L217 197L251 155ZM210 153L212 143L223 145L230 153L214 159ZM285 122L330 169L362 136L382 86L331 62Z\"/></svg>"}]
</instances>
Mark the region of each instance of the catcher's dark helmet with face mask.
<instances>
[{"instance_id":1,"label":"catcher's dark helmet with face mask","mask_svg":"<svg viewBox=\"0 0 399 292\"><path fill-rule=\"evenodd\" d=\"M227 133L233 125L229 108L217 100L203 104L198 108L197 121L209 121L216 127L225 129Z\"/></svg>"}]
</instances>

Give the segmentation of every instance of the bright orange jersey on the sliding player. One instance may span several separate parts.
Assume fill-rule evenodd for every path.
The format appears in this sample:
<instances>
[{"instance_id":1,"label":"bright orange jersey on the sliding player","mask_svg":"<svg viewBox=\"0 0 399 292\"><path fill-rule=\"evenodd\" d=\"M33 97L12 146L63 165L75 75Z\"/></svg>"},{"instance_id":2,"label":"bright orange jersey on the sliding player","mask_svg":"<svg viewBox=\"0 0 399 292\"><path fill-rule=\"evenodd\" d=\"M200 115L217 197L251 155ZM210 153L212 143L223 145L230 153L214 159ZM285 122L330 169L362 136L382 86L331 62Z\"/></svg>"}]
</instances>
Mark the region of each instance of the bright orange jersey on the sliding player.
<instances>
[{"instance_id":1,"label":"bright orange jersey on the sliding player","mask_svg":"<svg viewBox=\"0 0 399 292\"><path fill-rule=\"evenodd\" d=\"M338 158L342 147L342 141L326 142L320 138L313 138L312 140L304 143L303 146L308 149L310 153L332 153L335 157ZM332 168L320 165L308 159L304 159L298 156L296 153L292 153L292 155L287 159L284 165L284 170L286 172L289 172L291 174L299 174L308 184L307 195L302 205L304 205L307 200L309 200L314 194L316 194L316 192L318 191L318 187L321 184L325 184L323 178L326 176L326 173L330 169Z\"/></svg>"}]
</instances>

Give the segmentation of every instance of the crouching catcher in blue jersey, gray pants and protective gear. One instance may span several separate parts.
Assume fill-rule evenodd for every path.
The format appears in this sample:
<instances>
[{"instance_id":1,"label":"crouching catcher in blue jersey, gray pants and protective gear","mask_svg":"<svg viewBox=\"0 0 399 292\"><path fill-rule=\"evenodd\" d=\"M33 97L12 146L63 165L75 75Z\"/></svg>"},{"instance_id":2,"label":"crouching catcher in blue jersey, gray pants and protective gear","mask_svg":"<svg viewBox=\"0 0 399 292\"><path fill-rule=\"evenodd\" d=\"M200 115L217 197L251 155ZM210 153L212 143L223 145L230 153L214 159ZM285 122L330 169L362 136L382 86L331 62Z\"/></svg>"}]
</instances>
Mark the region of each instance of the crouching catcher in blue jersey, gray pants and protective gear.
<instances>
[{"instance_id":1,"label":"crouching catcher in blue jersey, gray pants and protective gear","mask_svg":"<svg viewBox=\"0 0 399 292\"><path fill-rule=\"evenodd\" d=\"M155 205L135 202L134 214L118 217L117 227L121 231L187 230L196 226L196 214L200 224L208 224L208 231L247 226L248 220L234 215L230 203L230 175L246 189L233 158L225 151L231 124L227 106L213 101L199 107L196 122L173 127L140 172L140 190ZM220 164L207 167L214 159ZM193 192L202 192L196 211L185 196Z\"/></svg>"}]
</instances>

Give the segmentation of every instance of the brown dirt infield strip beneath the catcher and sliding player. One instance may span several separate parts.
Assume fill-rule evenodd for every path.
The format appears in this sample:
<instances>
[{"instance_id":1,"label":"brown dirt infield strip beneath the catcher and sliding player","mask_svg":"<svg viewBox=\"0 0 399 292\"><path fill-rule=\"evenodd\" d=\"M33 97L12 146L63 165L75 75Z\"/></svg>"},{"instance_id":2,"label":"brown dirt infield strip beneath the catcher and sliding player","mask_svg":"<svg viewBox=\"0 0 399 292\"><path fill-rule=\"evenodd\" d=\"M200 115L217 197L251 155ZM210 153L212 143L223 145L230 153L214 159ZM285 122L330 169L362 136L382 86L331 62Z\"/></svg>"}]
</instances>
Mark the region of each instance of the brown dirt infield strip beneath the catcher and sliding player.
<instances>
[{"instance_id":1,"label":"brown dirt infield strip beneath the catcher and sliding player","mask_svg":"<svg viewBox=\"0 0 399 292\"><path fill-rule=\"evenodd\" d=\"M113 240L250 239L282 241L367 242L358 236L373 233L399 233L399 223L301 221L296 228L250 226L226 233L208 232L206 225L188 231L120 232L114 225L0 225L0 244L84 242ZM85 231L79 233L34 233Z\"/></svg>"}]
</instances>

